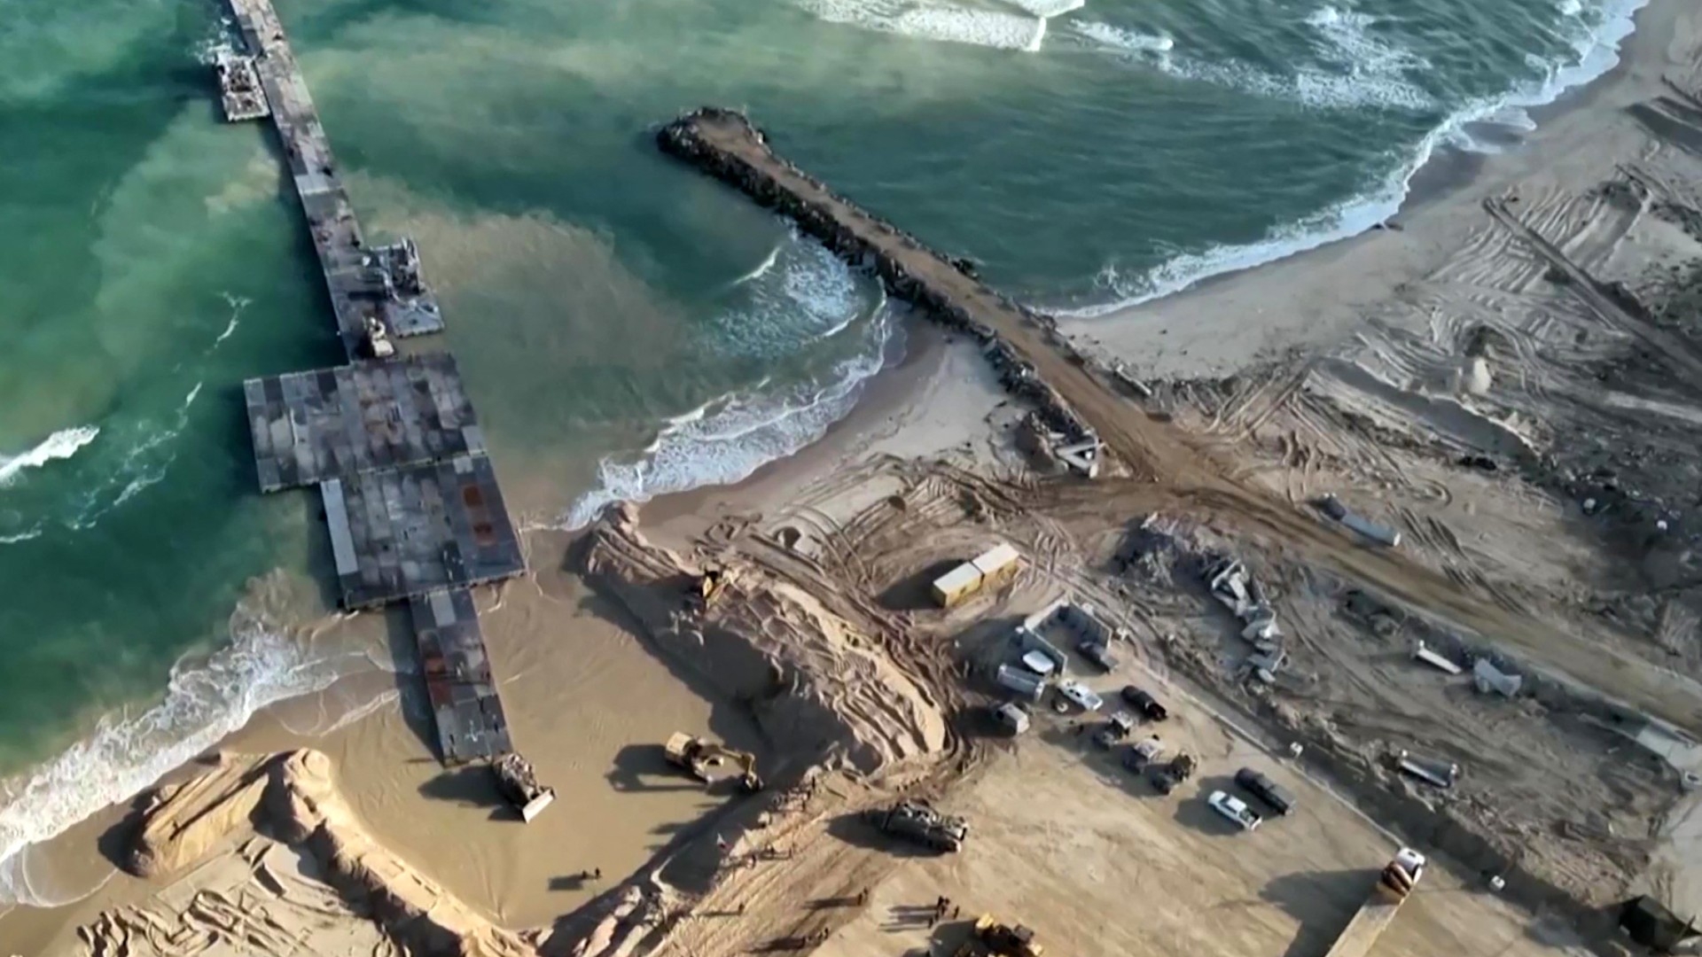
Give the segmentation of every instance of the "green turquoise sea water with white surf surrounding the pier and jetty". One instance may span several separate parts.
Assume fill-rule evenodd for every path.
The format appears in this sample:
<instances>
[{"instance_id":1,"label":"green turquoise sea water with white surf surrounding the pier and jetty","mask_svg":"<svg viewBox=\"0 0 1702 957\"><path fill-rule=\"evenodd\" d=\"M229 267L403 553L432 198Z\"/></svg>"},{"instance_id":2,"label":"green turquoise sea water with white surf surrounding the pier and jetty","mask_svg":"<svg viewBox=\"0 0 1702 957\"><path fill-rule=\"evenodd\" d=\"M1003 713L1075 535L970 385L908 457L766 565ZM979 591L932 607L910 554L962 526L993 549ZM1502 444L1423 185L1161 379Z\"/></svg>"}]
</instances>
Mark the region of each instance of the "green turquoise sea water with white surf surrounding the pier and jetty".
<instances>
[{"instance_id":1,"label":"green turquoise sea water with white surf surrounding the pier and jetty","mask_svg":"<svg viewBox=\"0 0 1702 957\"><path fill-rule=\"evenodd\" d=\"M531 524L742 477L902 347L866 279L655 153L681 109L747 107L994 284L1094 312L1385 218L1433 152L1607 70L1639 5L277 3ZM272 596L323 545L308 497L255 494L240 383L340 352L269 135L216 121L223 32L204 0L0 0L0 906L68 892L31 841L366 666Z\"/></svg>"}]
</instances>

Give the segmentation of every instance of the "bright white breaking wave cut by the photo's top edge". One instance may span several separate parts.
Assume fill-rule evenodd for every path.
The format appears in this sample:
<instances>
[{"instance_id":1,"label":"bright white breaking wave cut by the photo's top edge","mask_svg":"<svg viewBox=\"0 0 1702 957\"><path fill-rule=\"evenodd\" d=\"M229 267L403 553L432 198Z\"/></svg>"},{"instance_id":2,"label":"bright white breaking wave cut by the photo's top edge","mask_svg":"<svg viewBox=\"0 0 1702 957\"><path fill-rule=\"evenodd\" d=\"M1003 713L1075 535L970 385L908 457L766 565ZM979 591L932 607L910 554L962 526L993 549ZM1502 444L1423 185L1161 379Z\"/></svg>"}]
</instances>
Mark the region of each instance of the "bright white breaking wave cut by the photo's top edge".
<instances>
[{"instance_id":1,"label":"bright white breaking wave cut by the photo's top edge","mask_svg":"<svg viewBox=\"0 0 1702 957\"><path fill-rule=\"evenodd\" d=\"M911 3L905 0L800 0L800 5L831 24L900 34L940 43L965 43L996 49L1038 51L1047 20L1076 10L1084 0L1014 0L1009 10L955 3ZM1013 12L1021 10L1021 12Z\"/></svg>"}]
</instances>

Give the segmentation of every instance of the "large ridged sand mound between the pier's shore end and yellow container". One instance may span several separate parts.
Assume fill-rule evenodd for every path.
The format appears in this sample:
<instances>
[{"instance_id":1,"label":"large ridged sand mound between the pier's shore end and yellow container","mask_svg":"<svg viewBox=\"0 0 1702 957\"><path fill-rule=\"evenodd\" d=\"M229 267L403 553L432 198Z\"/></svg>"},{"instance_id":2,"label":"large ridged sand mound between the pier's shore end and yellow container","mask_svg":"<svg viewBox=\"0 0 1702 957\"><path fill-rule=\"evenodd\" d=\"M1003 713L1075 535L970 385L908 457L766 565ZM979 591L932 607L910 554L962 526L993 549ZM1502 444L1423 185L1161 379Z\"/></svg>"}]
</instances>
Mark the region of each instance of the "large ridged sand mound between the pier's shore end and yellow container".
<instances>
[{"instance_id":1,"label":"large ridged sand mound between the pier's shore end and yellow container","mask_svg":"<svg viewBox=\"0 0 1702 957\"><path fill-rule=\"evenodd\" d=\"M749 702L788 758L873 771L945 749L945 713L902 657L771 570L725 560L727 587L700 610L701 570L648 543L623 507L592 533L584 570L664 654Z\"/></svg>"}]
</instances>

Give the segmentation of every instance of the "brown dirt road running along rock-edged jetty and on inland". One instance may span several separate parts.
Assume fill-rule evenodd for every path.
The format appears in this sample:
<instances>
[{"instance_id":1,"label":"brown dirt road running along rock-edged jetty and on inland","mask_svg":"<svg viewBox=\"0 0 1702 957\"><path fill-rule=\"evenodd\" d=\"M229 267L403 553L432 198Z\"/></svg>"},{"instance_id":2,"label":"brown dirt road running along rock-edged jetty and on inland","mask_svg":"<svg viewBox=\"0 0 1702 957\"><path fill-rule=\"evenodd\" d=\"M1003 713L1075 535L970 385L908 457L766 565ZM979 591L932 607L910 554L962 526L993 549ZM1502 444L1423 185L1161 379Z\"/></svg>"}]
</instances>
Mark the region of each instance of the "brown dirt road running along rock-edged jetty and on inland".
<instances>
[{"instance_id":1,"label":"brown dirt road running along rock-edged jetty and on inland","mask_svg":"<svg viewBox=\"0 0 1702 957\"><path fill-rule=\"evenodd\" d=\"M1135 482L1157 484L1166 497L1197 516L1266 538L1305 562L1511 649L1534 666L1702 736L1702 688L1693 681L1540 622L1516 603L1508 603L1510 608L1467 591L1399 552L1363 547L1275 496L1231 478L1229 463L1214 460L1178 429L1120 398L1014 303L780 158L744 116L698 111L676 121L664 133L669 135L694 146L691 162L780 206L836 252L851 259L871 254L882 261L883 276L904 276L917 284L912 291L919 288L919 298L951 303L972 324L992 330L1098 433ZM1065 494L1079 496L1082 507L1115 513L1118 485L1118 480L1103 480ZM1152 489L1142 487L1139 496L1151 499Z\"/></svg>"}]
</instances>

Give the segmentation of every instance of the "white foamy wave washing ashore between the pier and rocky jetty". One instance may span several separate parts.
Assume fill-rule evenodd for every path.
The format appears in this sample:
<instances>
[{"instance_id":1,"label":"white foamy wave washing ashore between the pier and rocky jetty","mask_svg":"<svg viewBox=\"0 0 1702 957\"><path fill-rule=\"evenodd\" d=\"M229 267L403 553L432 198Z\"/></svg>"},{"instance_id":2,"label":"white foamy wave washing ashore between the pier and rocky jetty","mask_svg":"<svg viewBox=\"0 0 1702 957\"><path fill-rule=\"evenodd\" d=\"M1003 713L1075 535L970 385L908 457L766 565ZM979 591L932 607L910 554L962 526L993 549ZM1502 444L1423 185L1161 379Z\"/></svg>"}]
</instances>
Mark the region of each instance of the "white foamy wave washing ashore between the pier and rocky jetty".
<instances>
[{"instance_id":1,"label":"white foamy wave washing ashore between the pier and rocky jetty","mask_svg":"<svg viewBox=\"0 0 1702 957\"><path fill-rule=\"evenodd\" d=\"M572 504L560 528L584 528L614 502L730 485L798 453L851 412L863 383L885 364L894 327L890 310L877 310L868 327L871 349L834 366L825 385L807 383L785 395L762 395L761 387L723 395L669 421L637 461L604 458L597 487Z\"/></svg>"}]
</instances>

